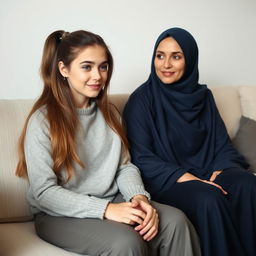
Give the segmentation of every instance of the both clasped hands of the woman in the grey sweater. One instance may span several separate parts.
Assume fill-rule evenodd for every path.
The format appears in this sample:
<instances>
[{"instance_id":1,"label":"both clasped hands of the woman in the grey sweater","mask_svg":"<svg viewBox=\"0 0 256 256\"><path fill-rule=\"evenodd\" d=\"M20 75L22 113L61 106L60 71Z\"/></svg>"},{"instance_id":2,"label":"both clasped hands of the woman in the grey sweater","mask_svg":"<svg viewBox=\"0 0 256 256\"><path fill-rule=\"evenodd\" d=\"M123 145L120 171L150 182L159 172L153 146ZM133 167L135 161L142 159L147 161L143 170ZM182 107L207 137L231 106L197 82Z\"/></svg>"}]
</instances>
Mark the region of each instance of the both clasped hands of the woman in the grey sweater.
<instances>
[{"instance_id":1,"label":"both clasped hands of the woman in the grey sweater","mask_svg":"<svg viewBox=\"0 0 256 256\"><path fill-rule=\"evenodd\" d=\"M128 225L135 225L144 240L150 241L158 232L159 218L154 209L143 195L135 196L131 202L109 203L105 218Z\"/></svg>"}]
</instances>

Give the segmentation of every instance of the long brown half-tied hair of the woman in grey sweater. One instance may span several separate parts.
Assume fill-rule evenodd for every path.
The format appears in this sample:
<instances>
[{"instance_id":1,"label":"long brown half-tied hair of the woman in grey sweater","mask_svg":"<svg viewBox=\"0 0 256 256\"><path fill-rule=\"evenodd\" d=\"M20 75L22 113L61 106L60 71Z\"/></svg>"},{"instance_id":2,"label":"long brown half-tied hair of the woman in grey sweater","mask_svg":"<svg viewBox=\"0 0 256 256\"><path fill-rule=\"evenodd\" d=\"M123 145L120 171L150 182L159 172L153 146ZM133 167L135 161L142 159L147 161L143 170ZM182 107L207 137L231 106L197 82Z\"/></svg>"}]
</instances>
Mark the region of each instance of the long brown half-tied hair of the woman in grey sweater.
<instances>
[{"instance_id":1,"label":"long brown half-tied hair of the woman in grey sweater","mask_svg":"<svg viewBox=\"0 0 256 256\"><path fill-rule=\"evenodd\" d=\"M120 123L115 107L109 103L107 91L113 72L113 58L104 40L94 33L79 30L72 33L58 30L50 34L44 45L41 77L44 88L41 96L35 102L23 127L19 144L19 162L16 168L16 175L19 177L27 175L27 165L24 153L24 140L27 125L32 114L42 106L46 107L46 118L49 122L49 135L52 146L52 169L60 178L60 172L64 168L67 172L68 181L74 175L74 162L84 167L76 152L75 135L78 129L79 120L76 113L76 106L70 91L68 82L63 79L58 63L62 61L69 68L71 62L86 47L99 45L106 51L108 61L108 77L104 88L99 93L96 101L107 124L120 137L125 155L128 156L128 141Z\"/></svg>"}]
</instances>

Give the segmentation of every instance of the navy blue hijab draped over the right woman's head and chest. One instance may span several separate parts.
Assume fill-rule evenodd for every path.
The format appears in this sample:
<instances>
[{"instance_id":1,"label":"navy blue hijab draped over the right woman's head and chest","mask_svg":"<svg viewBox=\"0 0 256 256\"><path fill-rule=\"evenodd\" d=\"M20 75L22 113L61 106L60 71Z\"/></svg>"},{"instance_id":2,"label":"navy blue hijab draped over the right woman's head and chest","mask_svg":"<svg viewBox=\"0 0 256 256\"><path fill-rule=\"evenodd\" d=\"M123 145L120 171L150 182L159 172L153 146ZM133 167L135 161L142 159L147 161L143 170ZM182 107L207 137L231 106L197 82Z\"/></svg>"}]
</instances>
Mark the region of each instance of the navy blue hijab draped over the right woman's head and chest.
<instances>
[{"instance_id":1,"label":"navy blue hijab draped over the right woman's head and chest","mask_svg":"<svg viewBox=\"0 0 256 256\"><path fill-rule=\"evenodd\" d=\"M164 84L156 75L154 59L159 43L172 37L185 58L183 77ZM216 108L210 91L198 83L198 47L190 33L180 28L164 31L155 44L151 74L146 82L151 94L155 124L168 155L185 168L204 168L214 155Z\"/></svg>"}]
</instances>

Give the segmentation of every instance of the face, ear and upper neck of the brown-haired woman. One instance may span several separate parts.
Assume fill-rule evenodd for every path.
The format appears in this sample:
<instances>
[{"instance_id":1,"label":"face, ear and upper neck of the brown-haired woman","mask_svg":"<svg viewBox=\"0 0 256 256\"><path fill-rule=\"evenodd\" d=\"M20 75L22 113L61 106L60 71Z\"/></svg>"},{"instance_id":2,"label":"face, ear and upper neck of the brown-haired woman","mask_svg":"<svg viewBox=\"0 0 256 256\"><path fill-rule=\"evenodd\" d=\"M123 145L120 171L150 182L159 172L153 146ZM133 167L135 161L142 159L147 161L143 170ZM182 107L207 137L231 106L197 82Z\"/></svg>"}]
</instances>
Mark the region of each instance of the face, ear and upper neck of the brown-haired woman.
<instances>
[{"instance_id":1,"label":"face, ear and upper neck of the brown-haired woman","mask_svg":"<svg viewBox=\"0 0 256 256\"><path fill-rule=\"evenodd\" d=\"M76 107L85 108L95 98L108 78L107 54L99 45L88 46L66 67L59 62L59 70L68 80Z\"/></svg>"}]
</instances>

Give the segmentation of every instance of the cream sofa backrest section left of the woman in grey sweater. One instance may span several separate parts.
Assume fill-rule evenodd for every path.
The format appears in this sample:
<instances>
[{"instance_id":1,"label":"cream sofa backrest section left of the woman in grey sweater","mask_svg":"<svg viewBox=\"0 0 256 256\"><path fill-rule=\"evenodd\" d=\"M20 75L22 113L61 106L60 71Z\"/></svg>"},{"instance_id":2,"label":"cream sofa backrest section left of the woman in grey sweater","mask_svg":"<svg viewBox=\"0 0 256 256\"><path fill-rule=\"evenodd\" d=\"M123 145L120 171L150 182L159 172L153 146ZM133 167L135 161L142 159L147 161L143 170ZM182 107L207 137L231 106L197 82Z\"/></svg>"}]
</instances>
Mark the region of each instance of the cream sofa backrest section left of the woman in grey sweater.
<instances>
[{"instance_id":1,"label":"cream sofa backrest section left of the woman in grey sweater","mask_svg":"<svg viewBox=\"0 0 256 256\"><path fill-rule=\"evenodd\" d=\"M0 222L32 218L26 202L28 182L14 175L17 143L33 100L0 100Z\"/></svg>"}]
</instances>

